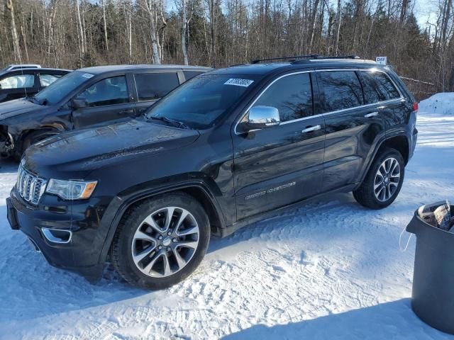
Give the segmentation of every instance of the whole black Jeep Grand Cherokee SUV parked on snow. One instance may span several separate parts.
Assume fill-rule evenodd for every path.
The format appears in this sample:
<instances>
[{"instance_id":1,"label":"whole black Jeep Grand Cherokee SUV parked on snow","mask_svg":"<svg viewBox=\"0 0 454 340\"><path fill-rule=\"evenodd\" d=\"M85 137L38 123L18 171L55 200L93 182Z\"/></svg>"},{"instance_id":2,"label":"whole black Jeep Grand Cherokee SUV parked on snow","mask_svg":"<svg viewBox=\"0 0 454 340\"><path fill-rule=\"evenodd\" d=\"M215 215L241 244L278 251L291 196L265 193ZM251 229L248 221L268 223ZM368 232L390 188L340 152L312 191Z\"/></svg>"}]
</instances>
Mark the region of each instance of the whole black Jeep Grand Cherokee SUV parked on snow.
<instances>
[{"instance_id":1,"label":"whole black Jeep Grand Cherokee SUV parked on snow","mask_svg":"<svg viewBox=\"0 0 454 340\"><path fill-rule=\"evenodd\" d=\"M199 265L210 235L307 198L397 197L417 103L388 67L313 58L218 69L146 118L68 132L27 149L7 200L55 266L165 288Z\"/></svg>"}]
</instances>

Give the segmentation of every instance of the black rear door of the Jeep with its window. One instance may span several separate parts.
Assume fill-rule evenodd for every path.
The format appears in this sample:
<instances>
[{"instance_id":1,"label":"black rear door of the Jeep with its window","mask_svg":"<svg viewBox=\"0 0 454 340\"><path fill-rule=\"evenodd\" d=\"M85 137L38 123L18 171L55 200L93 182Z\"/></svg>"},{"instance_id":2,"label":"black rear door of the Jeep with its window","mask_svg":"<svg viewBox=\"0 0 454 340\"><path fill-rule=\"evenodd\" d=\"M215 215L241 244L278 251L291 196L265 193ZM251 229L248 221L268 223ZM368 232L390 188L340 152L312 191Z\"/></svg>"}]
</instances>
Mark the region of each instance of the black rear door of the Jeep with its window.
<instances>
[{"instance_id":1,"label":"black rear door of the Jeep with its window","mask_svg":"<svg viewBox=\"0 0 454 340\"><path fill-rule=\"evenodd\" d=\"M385 134L380 101L364 98L358 72L316 72L325 116L323 191L358 181L365 159Z\"/></svg>"}]
</instances>

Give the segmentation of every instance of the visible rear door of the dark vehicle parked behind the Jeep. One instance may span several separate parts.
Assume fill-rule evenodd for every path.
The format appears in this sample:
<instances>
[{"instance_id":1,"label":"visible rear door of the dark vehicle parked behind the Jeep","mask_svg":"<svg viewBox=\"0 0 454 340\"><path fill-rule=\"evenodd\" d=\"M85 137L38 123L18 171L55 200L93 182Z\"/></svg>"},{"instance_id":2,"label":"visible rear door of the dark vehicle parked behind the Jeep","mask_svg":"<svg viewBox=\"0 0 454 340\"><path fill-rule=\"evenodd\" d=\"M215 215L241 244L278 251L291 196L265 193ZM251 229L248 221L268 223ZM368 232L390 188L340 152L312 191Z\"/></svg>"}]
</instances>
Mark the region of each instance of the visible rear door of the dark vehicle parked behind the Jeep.
<instances>
[{"instance_id":1,"label":"visible rear door of the dark vehicle parked behind the Jeep","mask_svg":"<svg viewBox=\"0 0 454 340\"><path fill-rule=\"evenodd\" d=\"M182 77L181 77L182 78ZM135 110L143 114L156 101L180 84L180 75L175 71L146 72L133 74L135 84ZM181 82L183 79L181 79Z\"/></svg>"}]
</instances>

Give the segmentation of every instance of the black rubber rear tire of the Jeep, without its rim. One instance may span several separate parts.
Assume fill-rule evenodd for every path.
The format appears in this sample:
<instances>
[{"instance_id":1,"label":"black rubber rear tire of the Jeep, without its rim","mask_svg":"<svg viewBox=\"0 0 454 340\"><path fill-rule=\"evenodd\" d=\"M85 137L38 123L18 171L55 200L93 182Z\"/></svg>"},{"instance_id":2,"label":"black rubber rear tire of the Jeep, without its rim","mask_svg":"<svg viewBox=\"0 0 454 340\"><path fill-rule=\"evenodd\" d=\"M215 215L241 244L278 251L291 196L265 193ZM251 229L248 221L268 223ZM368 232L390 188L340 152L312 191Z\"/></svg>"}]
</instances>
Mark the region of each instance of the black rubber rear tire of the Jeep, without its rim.
<instances>
[{"instance_id":1,"label":"black rubber rear tire of the Jeep, without its rim","mask_svg":"<svg viewBox=\"0 0 454 340\"><path fill-rule=\"evenodd\" d=\"M399 168L400 168L400 176L399 176L399 183L397 184L397 188L395 191L392 193L392 195L389 197L387 200L379 200L376 195L375 195L375 177L377 175L377 171L382 165L382 163L387 160L387 159L396 159ZM398 152L396 149L392 149L390 147L382 149L382 151L377 154L377 156L374 159L374 162L372 163L372 166L370 166L369 171L367 172L367 175L362 181L360 187L353 191L353 196L355 197L355 200L360 203L360 205L365 206L366 208L371 208L371 209L382 209L386 208L388 205L394 202L394 200L397 198L399 195L400 189L402 188L402 183L404 183L404 175L405 175L405 162L402 157L402 154ZM385 189L386 190L386 189Z\"/></svg>"}]
</instances>

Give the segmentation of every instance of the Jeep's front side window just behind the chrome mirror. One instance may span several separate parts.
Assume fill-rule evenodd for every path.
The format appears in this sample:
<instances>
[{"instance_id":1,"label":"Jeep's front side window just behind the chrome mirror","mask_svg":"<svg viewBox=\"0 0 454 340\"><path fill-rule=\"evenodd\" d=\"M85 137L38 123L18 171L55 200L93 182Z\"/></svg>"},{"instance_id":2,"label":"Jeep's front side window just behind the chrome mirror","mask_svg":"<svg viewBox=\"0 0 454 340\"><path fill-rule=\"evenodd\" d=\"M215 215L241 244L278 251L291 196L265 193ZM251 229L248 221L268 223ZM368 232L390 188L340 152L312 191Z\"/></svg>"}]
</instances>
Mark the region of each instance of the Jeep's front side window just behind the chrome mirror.
<instances>
[{"instance_id":1,"label":"Jeep's front side window just behind the chrome mirror","mask_svg":"<svg viewBox=\"0 0 454 340\"><path fill-rule=\"evenodd\" d=\"M277 108L281 122L313 115L310 74L292 74L275 81L254 106Z\"/></svg>"}]
</instances>

